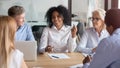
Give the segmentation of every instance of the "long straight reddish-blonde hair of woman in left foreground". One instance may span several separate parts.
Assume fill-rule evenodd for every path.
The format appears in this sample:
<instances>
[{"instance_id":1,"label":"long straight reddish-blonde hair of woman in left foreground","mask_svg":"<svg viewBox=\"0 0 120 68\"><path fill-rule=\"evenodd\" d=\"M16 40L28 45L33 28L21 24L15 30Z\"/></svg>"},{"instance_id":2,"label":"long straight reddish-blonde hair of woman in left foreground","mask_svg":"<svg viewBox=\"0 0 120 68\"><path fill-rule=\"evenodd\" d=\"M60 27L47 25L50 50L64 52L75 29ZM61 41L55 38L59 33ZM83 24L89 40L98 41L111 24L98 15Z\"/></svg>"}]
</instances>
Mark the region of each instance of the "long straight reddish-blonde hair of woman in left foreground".
<instances>
[{"instance_id":1,"label":"long straight reddish-blonde hair of woman in left foreground","mask_svg":"<svg viewBox=\"0 0 120 68\"><path fill-rule=\"evenodd\" d=\"M0 68L9 67L10 53L14 50L16 26L12 17L0 16Z\"/></svg>"}]
</instances>

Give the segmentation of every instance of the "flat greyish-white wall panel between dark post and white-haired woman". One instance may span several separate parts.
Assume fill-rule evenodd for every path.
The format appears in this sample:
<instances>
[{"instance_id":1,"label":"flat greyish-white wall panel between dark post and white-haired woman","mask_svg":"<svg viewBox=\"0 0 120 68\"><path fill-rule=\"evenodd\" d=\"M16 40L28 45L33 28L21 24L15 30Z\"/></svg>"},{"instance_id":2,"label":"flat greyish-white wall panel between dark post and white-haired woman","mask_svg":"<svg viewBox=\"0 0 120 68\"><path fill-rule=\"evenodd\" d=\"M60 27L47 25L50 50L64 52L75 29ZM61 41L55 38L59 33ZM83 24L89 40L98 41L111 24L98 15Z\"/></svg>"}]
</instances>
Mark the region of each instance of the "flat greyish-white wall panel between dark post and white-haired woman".
<instances>
[{"instance_id":1,"label":"flat greyish-white wall panel between dark post and white-haired woman","mask_svg":"<svg viewBox=\"0 0 120 68\"><path fill-rule=\"evenodd\" d=\"M88 0L72 0L72 14L78 15L74 19L84 19L87 16Z\"/></svg>"}]
</instances>

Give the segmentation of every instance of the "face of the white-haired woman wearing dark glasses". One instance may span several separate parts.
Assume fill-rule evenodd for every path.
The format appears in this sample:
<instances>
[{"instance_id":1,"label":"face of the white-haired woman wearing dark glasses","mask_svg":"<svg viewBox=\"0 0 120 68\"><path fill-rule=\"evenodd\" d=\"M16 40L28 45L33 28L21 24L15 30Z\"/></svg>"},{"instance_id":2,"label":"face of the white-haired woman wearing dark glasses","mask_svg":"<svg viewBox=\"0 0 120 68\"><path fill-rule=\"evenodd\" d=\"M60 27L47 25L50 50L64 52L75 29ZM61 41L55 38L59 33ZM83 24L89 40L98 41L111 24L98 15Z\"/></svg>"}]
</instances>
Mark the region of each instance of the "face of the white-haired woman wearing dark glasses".
<instances>
[{"instance_id":1,"label":"face of the white-haired woman wearing dark glasses","mask_svg":"<svg viewBox=\"0 0 120 68\"><path fill-rule=\"evenodd\" d=\"M100 29L103 26L103 20L97 11L93 12L92 23L95 29Z\"/></svg>"}]
</instances>

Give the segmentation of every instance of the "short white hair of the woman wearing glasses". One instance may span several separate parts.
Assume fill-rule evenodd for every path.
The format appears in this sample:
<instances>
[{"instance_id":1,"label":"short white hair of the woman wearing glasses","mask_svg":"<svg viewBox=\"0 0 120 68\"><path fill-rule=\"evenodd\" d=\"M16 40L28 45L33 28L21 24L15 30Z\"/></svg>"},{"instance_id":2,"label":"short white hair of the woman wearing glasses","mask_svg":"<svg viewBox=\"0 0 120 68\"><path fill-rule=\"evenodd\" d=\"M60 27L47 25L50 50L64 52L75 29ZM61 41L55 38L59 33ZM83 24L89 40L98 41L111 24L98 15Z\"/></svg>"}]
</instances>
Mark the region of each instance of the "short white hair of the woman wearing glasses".
<instances>
[{"instance_id":1,"label":"short white hair of the woman wearing glasses","mask_svg":"<svg viewBox=\"0 0 120 68\"><path fill-rule=\"evenodd\" d=\"M103 22L102 29L106 28L106 24L105 24L105 21L104 21L106 11L104 9L99 8L99 9L94 10L92 13L94 13L94 12L98 12L98 14L100 15L100 18Z\"/></svg>"}]
</instances>

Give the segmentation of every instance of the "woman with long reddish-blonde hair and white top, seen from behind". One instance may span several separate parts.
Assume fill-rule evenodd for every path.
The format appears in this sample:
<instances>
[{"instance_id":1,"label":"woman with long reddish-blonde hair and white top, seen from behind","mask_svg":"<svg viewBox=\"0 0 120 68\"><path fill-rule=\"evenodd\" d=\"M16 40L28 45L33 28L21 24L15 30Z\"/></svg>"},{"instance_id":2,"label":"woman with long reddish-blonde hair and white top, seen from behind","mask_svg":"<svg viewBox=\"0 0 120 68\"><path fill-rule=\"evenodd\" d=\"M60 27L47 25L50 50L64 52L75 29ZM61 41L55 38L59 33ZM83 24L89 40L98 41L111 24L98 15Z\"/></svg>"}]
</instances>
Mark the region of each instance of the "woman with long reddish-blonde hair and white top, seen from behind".
<instances>
[{"instance_id":1,"label":"woman with long reddish-blonde hair and white top, seen from behind","mask_svg":"<svg viewBox=\"0 0 120 68\"><path fill-rule=\"evenodd\" d=\"M0 16L0 68L27 68L23 53L14 48L15 32L15 20Z\"/></svg>"}]
</instances>

